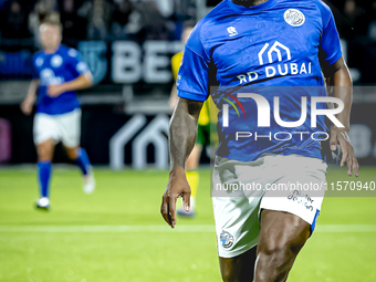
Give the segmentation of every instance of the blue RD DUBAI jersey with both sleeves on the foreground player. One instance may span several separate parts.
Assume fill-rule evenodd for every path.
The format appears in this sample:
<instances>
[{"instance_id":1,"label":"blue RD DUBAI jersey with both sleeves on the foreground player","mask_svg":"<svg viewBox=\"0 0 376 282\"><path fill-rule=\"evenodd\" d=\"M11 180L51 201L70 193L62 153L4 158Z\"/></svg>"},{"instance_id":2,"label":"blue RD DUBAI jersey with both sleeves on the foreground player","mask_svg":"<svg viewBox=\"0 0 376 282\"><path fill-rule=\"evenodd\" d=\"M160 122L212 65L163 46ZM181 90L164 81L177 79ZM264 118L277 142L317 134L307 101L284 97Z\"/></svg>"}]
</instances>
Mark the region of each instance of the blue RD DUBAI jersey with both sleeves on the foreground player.
<instances>
[{"instance_id":1,"label":"blue RD DUBAI jersey with both sleeves on the foreground player","mask_svg":"<svg viewBox=\"0 0 376 282\"><path fill-rule=\"evenodd\" d=\"M326 96L321 64L331 65L341 56L333 14L320 0L269 0L250 8L223 0L187 41L178 96L206 101L210 86L219 85L211 93L219 109L219 156L241 161L264 153L321 158L326 127L323 115L317 116L316 127L311 126L311 98ZM240 93L261 95L269 103L269 126L260 126L258 104ZM283 122L299 121L304 102L305 122L297 127L275 122L275 97ZM317 109L325 107L316 103Z\"/></svg>"}]
</instances>

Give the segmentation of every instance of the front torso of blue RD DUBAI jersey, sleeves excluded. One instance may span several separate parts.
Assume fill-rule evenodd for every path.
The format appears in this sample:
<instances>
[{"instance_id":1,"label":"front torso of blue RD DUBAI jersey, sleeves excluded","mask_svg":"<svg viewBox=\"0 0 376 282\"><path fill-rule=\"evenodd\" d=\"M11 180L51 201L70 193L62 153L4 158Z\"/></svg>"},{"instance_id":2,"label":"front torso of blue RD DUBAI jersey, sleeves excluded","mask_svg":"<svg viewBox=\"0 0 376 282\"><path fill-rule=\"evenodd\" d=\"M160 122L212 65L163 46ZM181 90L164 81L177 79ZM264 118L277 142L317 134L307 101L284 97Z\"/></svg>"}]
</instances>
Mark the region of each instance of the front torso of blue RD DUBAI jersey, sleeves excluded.
<instances>
[{"instance_id":1,"label":"front torso of blue RD DUBAI jersey, sleeves excluded","mask_svg":"<svg viewBox=\"0 0 376 282\"><path fill-rule=\"evenodd\" d=\"M269 0L253 10L237 9L239 6L230 1L221 7L201 27L203 49L217 69L217 81L224 86L211 93L219 108L217 154L244 161L257 159L262 153L318 157L320 144L312 138L278 140L268 136L280 132L325 130L323 118L316 128L311 128L310 114L299 127L289 128L278 124L273 115L274 98L280 101L276 107L284 121L293 122L301 117L303 96L310 101L311 96L326 95L318 62L323 34L320 9L310 0ZM258 104L253 98L238 96L238 86L244 86L242 93L257 93L263 98L262 107L267 108L270 124L259 124L259 118L264 119L259 117ZM227 118L223 118L224 104ZM237 139L241 132L250 133L249 137Z\"/></svg>"}]
</instances>

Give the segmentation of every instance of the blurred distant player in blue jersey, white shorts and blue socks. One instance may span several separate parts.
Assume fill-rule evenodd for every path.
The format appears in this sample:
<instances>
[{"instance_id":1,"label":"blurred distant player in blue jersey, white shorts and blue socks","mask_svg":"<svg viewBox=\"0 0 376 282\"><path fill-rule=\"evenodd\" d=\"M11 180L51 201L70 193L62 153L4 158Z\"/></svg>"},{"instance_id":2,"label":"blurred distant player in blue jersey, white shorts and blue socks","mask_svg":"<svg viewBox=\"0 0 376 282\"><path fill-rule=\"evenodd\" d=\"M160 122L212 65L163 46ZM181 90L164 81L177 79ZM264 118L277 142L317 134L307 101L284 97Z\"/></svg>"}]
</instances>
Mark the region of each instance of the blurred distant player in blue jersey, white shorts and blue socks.
<instances>
[{"instance_id":1,"label":"blurred distant player in blue jersey, white shorts and blue socks","mask_svg":"<svg viewBox=\"0 0 376 282\"><path fill-rule=\"evenodd\" d=\"M95 188L87 154L80 147L81 108L75 92L92 84L92 74L76 50L61 45L60 22L43 22L40 34L43 51L33 56L34 75L21 109L30 115L36 103L33 126L40 191L36 208L49 210L51 160L54 146L60 140L67 156L82 170L84 191L91 194Z\"/></svg>"}]
</instances>

